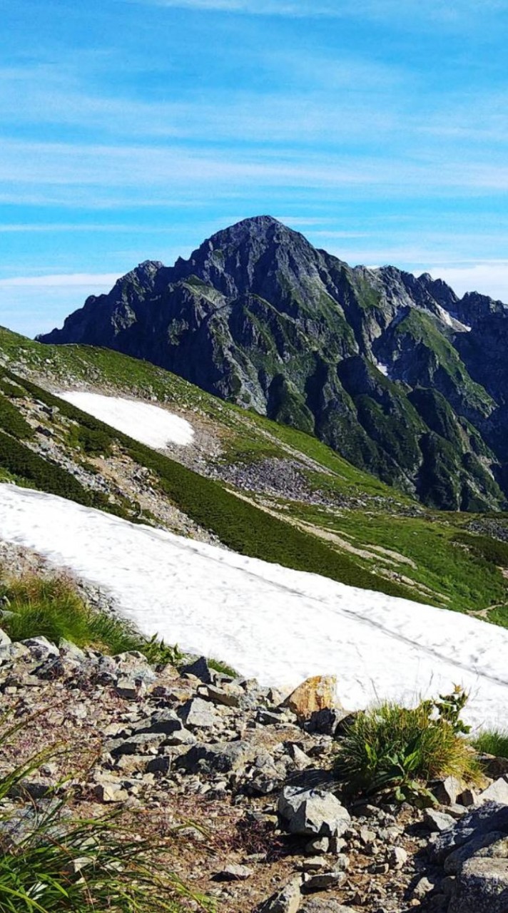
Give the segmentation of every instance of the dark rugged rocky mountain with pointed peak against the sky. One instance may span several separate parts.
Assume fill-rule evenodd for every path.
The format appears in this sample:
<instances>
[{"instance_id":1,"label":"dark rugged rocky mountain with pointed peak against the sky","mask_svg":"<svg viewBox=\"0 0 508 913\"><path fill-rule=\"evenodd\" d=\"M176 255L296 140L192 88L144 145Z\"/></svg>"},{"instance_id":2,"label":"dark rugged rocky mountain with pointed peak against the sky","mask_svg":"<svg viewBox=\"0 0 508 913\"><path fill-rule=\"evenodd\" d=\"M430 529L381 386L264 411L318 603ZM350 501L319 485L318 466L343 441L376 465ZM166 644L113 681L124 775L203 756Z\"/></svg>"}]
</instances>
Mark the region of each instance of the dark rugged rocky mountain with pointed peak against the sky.
<instances>
[{"instance_id":1,"label":"dark rugged rocky mountain with pointed peak against the sky","mask_svg":"<svg viewBox=\"0 0 508 913\"><path fill-rule=\"evenodd\" d=\"M508 308L428 274L351 268L270 216L172 268L141 264L40 341L154 362L430 506L506 506Z\"/></svg>"}]
</instances>

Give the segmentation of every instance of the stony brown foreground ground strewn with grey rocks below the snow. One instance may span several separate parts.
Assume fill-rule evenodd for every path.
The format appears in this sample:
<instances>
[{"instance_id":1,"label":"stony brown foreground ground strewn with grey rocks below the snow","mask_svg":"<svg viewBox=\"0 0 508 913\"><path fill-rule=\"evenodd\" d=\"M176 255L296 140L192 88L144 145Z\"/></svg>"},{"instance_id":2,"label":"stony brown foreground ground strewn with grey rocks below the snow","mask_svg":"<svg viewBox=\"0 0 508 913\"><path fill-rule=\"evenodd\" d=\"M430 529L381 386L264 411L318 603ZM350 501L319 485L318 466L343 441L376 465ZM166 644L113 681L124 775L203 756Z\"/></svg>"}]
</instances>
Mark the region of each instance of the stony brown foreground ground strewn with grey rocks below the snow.
<instances>
[{"instance_id":1,"label":"stony brown foreground ground strewn with grey rocks below the snow","mask_svg":"<svg viewBox=\"0 0 508 913\"><path fill-rule=\"evenodd\" d=\"M227 913L508 910L508 761L491 761L482 793L435 784L437 810L351 803L331 772L346 714L325 678L284 701L202 657L155 670L137 653L0 644L3 706L26 720L0 772L55 746L5 803L18 829L55 788L77 813L122 808Z\"/></svg>"}]
</instances>

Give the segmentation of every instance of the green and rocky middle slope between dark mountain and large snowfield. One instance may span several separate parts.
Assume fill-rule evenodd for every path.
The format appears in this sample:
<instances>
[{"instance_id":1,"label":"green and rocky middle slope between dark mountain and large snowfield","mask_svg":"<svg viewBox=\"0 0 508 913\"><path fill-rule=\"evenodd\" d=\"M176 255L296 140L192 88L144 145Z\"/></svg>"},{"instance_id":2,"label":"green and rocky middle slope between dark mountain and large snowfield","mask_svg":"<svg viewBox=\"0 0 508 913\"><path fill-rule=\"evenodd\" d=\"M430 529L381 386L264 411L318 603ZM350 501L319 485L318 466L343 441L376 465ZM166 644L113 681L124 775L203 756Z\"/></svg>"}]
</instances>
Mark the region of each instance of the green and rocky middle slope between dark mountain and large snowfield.
<instances>
[{"instance_id":1,"label":"green and rocky middle slope between dark mountain and large snowfield","mask_svg":"<svg viewBox=\"0 0 508 913\"><path fill-rule=\"evenodd\" d=\"M10 407L0 399L0 425L10 449L0 447L0 480L508 625L505 515L423 509L315 437L117 352L41 345L0 331L2 362L11 375L0 378ZM55 398L69 390L158 404L192 425L192 444L161 454L138 445ZM134 422L128 430L137 432ZM27 452L37 455L37 472L33 461L16 472L16 445L25 448L22 467Z\"/></svg>"}]
</instances>

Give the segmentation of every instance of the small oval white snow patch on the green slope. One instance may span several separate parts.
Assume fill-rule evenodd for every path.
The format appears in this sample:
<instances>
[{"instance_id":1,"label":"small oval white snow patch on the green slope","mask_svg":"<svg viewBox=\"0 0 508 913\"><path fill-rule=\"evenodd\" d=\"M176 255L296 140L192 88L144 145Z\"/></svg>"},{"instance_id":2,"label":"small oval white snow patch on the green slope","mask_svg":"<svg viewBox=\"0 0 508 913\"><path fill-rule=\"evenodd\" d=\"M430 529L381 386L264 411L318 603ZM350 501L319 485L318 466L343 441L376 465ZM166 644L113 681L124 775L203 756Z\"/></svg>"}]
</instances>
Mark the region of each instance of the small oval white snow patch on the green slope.
<instances>
[{"instance_id":1,"label":"small oval white snow patch on the green slope","mask_svg":"<svg viewBox=\"0 0 508 913\"><path fill-rule=\"evenodd\" d=\"M58 396L150 447L163 449L168 444L192 444L193 426L159 405L134 402L121 396L90 394L85 390L68 390Z\"/></svg>"}]
</instances>

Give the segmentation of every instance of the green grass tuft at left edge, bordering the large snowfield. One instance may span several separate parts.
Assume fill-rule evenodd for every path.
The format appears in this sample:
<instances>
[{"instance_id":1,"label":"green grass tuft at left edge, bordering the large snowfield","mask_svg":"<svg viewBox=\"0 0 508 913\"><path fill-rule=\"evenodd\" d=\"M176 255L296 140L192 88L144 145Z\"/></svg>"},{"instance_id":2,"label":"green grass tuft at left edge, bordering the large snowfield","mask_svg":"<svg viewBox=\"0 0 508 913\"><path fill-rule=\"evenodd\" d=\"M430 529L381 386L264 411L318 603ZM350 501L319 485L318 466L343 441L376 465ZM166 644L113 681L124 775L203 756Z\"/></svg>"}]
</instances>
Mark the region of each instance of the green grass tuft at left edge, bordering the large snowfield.
<instances>
[{"instance_id":1,"label":"green grass tuft at left edge, bordering the large snowfield","mask_svg":"<svg viewBox=\"0 0 508 913\"><path fill-rule=\"evenodd\" d=\"M177 647L153 636L145 640L121 618L90 609L65 577L42 578L27 574L0 585L9 613L2 627L11 640L47 637L54 644L69 640L115 656L137 650L153 665L177 663Z\"/></svg>"}]
</instances>

